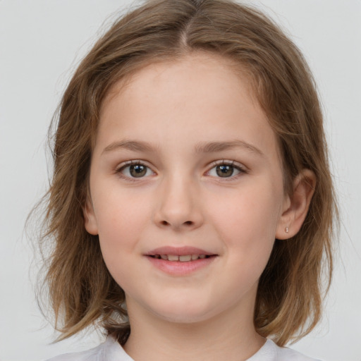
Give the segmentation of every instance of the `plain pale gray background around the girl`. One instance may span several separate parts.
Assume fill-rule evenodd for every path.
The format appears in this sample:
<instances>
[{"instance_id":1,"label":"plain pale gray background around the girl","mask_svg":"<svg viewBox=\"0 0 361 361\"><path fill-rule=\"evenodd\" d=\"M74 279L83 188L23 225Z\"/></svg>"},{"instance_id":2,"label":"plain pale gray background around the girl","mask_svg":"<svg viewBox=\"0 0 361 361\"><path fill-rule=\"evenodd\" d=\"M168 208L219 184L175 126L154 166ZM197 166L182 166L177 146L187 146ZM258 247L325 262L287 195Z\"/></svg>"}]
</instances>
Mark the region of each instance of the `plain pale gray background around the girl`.
<instances>
[{"instance_id":1,"label":"plain pale gray background around the girl","mask_svg":"<svg viewBox=\"0 0 361 361\"><path fill-rule=\"evenodd\" d=\"M250 1L248 1L250 2ZM129 0L0 0L0 360L44 360L96 345L54 345L31 282L23 227L46 189L46 135L78 61ZM361 1L252 1L304 52L319 85L338 190L339 255L323 322L293 348L329 361L360 361ZM105 23L104 23L105 20ZM49 152L48 152L49 154ZM49 161L48 161L49 164ZM30 269L30 271L29 271Z\"/></svg>"}]
</instances>

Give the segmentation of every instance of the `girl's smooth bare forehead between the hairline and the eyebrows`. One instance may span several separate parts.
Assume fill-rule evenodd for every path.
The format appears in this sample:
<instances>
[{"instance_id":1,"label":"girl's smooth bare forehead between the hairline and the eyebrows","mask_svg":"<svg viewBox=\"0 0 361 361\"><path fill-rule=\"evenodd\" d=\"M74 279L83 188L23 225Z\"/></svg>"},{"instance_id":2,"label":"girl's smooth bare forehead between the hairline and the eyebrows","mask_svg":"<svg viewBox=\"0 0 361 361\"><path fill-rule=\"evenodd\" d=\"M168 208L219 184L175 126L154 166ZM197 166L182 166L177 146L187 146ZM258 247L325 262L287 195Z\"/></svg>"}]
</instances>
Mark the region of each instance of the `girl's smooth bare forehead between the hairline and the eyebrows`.
<instances>
[{"instance_id":1,"label":"girl's smooth bare forehead between the hairline and the eyebrows","mask_svg":"<svg viewBox=\"0 0 361 361\"><path fill-rule=\"evenodd\" d=\"M171 146L169 137L177 134L188 143L249 137L274 147L274 132L243 73L209 53L145 66L104 99L98 140L137 137Z\"/></svg>"}]
</instances>

